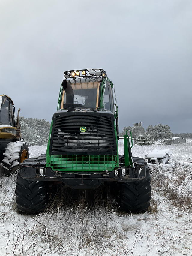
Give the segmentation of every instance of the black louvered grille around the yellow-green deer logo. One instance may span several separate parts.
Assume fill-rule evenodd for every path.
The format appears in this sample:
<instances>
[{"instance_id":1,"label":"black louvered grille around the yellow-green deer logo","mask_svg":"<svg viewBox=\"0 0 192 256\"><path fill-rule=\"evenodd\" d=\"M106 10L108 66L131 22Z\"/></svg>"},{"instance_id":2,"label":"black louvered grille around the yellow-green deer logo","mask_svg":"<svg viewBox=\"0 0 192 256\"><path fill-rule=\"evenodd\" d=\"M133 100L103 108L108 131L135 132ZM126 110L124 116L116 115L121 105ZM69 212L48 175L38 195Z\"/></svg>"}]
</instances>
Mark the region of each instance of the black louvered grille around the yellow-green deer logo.
<instances>
[{"instance_id":1,"label":"black louvered grille around the yellow-green deer logo","mask_svg":"<svg viewBox=\"0 0 192 256\"><path fill-rule=\"evenodd\" d=\"M110 116L56 116L50 154L117 154L112 122Z\"/></svg>"}]
</instances>

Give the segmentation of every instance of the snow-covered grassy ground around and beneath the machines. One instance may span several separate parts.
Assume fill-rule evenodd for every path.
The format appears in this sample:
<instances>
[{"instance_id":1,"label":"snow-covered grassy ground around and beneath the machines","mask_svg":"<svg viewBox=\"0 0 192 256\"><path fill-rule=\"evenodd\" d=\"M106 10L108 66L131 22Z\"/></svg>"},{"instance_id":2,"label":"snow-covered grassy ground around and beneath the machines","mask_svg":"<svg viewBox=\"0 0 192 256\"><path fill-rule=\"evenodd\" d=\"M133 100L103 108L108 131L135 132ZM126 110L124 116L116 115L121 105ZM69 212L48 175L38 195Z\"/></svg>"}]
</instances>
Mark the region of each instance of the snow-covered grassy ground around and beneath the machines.
<instances>
[{"instance_id":1,"label":"snow-covered grassy ground around and beneath the machines","mask_svg":"<svg viewBox=\"0 0 192 256\"><path fill-rule=\"evenodd\" d=\"M0 255L192 255L192 146L134 145L134 156L169 148L174 169L152 173L152 202L142 214L76 205L38 215L22 215L15 205L16 176L0 177ZM30 157L46 146L30 146ZM123 154L123 144L119 143ZM186 192L186 194L185 194ZM188 200L185 200L188 198Z\"/></svg>"}]
</instances>

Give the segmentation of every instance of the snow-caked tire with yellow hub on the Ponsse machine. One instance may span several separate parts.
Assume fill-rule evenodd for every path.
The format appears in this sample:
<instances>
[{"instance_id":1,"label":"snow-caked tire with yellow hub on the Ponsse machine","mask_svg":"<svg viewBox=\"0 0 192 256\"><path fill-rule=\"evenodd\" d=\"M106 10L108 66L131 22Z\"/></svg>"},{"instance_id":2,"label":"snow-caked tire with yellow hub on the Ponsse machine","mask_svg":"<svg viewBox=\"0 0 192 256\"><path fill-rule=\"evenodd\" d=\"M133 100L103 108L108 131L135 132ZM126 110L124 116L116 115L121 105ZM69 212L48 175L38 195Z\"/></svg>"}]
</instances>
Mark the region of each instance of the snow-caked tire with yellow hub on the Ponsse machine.
<instances>
[{"instance_id":1,"label":"snow-caked tire with yellow hub on the Ponsse machine","mask_svg":"<svg viewBox=\"0 0 192 256\"><path fill-rule=\"evenodd\" d=\"M7 144L4 152L3 169L6 175L16 173L20 163L29 158L29 149L26 142L12 141Z\"/></svg>"}]
</instances>

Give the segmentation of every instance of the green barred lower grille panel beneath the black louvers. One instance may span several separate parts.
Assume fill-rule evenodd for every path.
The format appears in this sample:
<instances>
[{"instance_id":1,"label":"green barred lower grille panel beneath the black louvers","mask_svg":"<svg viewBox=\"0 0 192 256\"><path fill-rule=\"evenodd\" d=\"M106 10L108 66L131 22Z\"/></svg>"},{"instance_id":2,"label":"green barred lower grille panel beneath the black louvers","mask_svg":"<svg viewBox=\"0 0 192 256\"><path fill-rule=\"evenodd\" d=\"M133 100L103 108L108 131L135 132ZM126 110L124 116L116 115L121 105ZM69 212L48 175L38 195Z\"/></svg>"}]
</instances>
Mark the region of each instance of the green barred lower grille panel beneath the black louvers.
<instances>
[{"instance_id":1,"label":"green barred lower grille panel beneath the black louvers","mask_svg":"<svg viewBox=\"0 0 192 256\"><path fill-rule=\"evenodd\" d=\"M113 171L116 155L50 155L53 171Z\"/></svg>"}]
</instances>

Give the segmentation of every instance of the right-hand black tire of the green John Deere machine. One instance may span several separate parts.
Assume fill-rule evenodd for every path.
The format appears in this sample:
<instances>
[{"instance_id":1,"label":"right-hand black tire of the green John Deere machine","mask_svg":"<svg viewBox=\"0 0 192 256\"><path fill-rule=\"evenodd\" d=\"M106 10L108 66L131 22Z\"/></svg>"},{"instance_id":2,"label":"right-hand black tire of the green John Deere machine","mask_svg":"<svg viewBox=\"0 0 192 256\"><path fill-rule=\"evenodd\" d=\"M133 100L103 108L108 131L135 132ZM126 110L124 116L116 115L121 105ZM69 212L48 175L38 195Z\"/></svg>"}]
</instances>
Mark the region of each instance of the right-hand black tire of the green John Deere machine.
<instances>
[{"instance_id":1,"label":"right-hand black tire of the green John Deere machine","mask_svg":"<svg viewBox=\"0 0 192 256\"><path fill-rule=\"evenodd\" d=\"M151 177L147 162L143 158L134 157L134 162L146 166L146 177L140 181L123 182L121 185L119 204L124 211L143 212L150 206Z\"/></svg>"}]
</instances>

